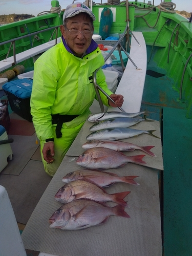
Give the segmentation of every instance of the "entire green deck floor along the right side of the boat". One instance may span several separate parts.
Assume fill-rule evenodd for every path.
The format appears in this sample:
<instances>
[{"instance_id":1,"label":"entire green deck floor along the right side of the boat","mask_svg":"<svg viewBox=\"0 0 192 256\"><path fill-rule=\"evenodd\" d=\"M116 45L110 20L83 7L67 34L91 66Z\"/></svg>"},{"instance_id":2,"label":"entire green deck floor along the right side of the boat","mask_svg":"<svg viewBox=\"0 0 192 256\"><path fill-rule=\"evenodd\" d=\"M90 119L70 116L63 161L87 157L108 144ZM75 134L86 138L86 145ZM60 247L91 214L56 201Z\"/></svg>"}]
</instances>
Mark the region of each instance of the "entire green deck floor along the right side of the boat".
<instances>
[{"instance_id":1,"label":"entire green deck floor along the right side of the boat","mask_svg":"<svg viewBox=\"0 0 192 256\"><path fill-rule=\"evenodd\" d=\"M147 69L151 69L150 65ZM153 71L164 73L154 68ZM146 75L141 109L160 121L164 171L161 173L163 256L192 255L192 119L174 81ZM161 120L162 113L162 120Z\"/></svg>"}]
</instances>

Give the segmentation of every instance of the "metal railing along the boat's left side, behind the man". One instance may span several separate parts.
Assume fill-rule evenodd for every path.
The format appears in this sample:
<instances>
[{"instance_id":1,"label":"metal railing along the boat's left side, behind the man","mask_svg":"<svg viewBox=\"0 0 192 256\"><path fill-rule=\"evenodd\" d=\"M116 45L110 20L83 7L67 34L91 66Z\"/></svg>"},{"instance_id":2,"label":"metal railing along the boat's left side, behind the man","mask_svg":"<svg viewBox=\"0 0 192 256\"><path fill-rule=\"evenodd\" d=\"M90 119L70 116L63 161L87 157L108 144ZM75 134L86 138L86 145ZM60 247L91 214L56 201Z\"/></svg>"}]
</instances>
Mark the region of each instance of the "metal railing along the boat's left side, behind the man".
<instances>
[{"instance_id":1,"label":"metal railing along the boat's left side, behind the man","mask_svg":"<svg viewBox=\"0 0 192 256\"><path fill-rule=\"evenodd\" d=\"M16 37L16 38L13 38L13 39L4 41L4 42L0 42L0 46L11 43L11 45L10 45L10 47L9 47L9 50L8 50L8 53L7 53L7 56L6 56L6 58L5 58L3 61L4 61L4 62L7 61L8 57L9 57L9 54L10 54L10 51L11 51L11 48L13 47L13 56L11 56L11 57L13 57L12 66L16 65L17 59L16 59L16 51L15 51L15 42L16 42L17 40L20 40L20 39L23 39L23 38L26 38L26 37L30 37L30 36L36 37L37 34L46 32L46 31L48 31L48 30L54 29L54 31L53 31L53 33L52 33L52 35L51 35L51 37L50 37L50 39L49 39L49 41L48 41L47 43L49 43L49 42L51 41L51 39L53 38L54 33L56 33L55 44L57 44L58 28L59 28L59 27L60 27L60 26L55 26L55 27L51 27L51 28L46 28L46 29L43 29L43 30L39 30L38 32L29 33L29 34L27 34L27 35L19 36L19 37ZM46 43L46 44L47 44L47 43ZM37 47L38 47L38 46L37 46ZM32 48L33 48L33 47L32 47ZM41 51L43 51L43 48L42 48ZM27 58L27 56L26 56L26 58Z\"/></svg>"}]
</instances>

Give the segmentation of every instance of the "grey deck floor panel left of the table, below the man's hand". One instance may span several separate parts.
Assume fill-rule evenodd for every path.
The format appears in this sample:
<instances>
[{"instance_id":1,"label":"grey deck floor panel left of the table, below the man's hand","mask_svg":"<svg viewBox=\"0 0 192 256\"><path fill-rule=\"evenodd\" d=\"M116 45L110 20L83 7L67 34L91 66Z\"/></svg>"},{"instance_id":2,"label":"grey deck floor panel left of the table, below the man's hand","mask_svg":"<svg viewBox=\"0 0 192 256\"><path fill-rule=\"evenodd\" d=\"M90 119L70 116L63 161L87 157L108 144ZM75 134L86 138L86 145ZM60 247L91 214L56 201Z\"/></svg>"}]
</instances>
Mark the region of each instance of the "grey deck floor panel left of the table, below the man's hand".
<instances>
[{"instance_id":1,"label":"grey deck floor panel left of the table, below the man's hand","mask_svg":"<svg viewBox=\"0 0 192 256\"><path fill-rule=\"evenodd\" d=\"M18 176L0 174L0 184L7 190L17 222L27 224L50 181L42 162L33 160Z\"/></svg>"}]
</instances>

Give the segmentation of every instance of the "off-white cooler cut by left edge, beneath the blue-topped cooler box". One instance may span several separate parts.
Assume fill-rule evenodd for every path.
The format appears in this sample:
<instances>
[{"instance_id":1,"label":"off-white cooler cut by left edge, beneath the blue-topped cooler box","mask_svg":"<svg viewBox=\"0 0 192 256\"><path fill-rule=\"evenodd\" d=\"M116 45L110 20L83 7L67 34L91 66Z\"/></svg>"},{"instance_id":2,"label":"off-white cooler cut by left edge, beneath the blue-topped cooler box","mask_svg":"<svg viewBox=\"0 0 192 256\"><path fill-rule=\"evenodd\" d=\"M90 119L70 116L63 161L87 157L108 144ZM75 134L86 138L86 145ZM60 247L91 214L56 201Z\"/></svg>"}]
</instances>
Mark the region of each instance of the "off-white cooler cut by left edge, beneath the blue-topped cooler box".
<instances>
[{"instance_id":1,"label":"off-white cooler cut by left edge, beneath the blue-topped cooler box","mask_svg":"<svg viewBox=\"0 0 192 256\"><path fill-rule=\"evenodd\" d=\"M0 172L7 166L7 160L13 159L11 142L13 142L13 139L8 139L4 126L0 125Z\"/></svg>"}]
</instances>

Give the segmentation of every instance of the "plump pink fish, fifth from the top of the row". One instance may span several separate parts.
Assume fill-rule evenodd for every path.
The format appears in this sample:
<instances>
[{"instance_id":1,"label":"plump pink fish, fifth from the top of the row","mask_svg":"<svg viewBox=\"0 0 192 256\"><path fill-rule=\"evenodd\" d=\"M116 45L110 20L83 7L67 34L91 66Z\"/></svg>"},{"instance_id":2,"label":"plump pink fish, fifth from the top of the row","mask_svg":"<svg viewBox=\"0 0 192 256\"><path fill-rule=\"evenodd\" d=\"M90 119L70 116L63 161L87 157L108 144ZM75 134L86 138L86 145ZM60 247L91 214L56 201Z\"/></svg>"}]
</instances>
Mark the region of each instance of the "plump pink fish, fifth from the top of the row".
<instances>
[{"instance_id":1,"label":"plump pink fish, fifth from the top of the row","mask_svg":"<svg viewBox=\"0 0 192 256\"><path fill-rule=\"evenodd\" d=\"M146 164L142 158L145 155L125 156L121 152L110 150L110 148L94 147L81 154L76 163L89 169L110 169L122 167L128 162Z\"/></svg>"}]
</instances>

